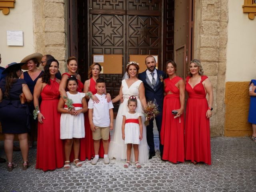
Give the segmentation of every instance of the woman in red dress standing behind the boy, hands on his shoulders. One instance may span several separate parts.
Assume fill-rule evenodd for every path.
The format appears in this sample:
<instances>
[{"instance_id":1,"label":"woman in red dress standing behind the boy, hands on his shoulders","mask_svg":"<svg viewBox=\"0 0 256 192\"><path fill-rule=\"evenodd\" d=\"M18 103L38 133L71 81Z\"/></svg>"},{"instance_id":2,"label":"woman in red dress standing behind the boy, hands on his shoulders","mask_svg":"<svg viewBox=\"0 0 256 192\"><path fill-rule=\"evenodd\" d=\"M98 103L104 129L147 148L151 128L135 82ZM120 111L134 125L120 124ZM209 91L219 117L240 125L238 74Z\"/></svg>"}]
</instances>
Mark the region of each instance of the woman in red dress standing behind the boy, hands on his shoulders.
<instances>
[{"instance_id":1,"label":"woman in red dress standing behind the boy, hands on his shoulders","mask_svg":"<svg viewBox=\"0 0 256 192\"><path fill-rule=\"evenodd\" d=\"M90 66L88 71L88 80L84 82L84 93L92 92L92 100L94 102L99 102L98 98L94 96L96 94L96 80L99 78L101 72L101 66L98 63L94 63ZM108 101L111 100L111 96L108 93L105 93L106 97L108 98ZM89 96L86 96L87 101L90 99ZM80 153L80 156L83 156L84 159L88 158L88 160L91 160L92 157L94 157L94 147L93 147L93 140L92 140L92 130L90 129L90 123L88 118L88 112L84 114L84 124L85 124L85 138L82 138L80 140L81 146L85 148L85 150ZM102 145L102 140L100 141L100 150L99 150L99 157L104 157L104 149Z\"/></svg>"}]
</instances>

